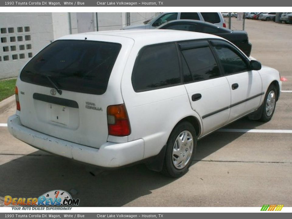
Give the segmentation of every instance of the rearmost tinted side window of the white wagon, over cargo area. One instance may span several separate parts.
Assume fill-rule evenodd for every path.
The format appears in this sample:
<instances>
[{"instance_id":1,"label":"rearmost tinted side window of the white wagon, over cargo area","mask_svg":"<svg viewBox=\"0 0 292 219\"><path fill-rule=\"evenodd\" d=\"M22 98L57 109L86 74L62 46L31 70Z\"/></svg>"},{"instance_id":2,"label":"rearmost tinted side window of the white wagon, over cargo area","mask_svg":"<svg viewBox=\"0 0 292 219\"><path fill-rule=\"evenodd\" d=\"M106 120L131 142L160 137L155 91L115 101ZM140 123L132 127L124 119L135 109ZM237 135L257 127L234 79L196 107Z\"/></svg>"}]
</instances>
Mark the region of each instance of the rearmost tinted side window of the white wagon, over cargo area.
<instances>
[{"instance_id":1,"label":"rearmost tinted side window of the white wagon, over cargo area","mask_svg":"<svg viewBox=\"0 0 292 219\"><path fill-rule=\"evenodd\" d=\"M180 83L179 61L174 43L146 47L138 56L132 74L135 91Z\"/></svg>"}]
</instances>

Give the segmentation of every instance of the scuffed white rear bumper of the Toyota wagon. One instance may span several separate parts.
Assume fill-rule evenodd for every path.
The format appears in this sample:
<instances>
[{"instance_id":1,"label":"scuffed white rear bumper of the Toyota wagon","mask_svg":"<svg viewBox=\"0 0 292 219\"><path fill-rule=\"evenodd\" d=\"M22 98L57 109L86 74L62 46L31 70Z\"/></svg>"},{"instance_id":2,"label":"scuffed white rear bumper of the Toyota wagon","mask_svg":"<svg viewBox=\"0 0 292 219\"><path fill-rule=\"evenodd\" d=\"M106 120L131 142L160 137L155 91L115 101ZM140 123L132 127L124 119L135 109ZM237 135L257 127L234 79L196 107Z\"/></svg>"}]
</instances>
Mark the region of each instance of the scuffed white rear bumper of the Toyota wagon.
<instances>
[{"instance_id":1,"label":"scuffed white rear bumper of the Toyota wagon","mask_svg":"<svg viewBox=\"0 0 292 219\"><path fill-rule=\"evenodd\" d=\"M142 160L144 156L142 139L126 143L106 142L99 149L91 148L25 127L17 115L8 118L8 130L14 137L35 148L101 167L116 168L128 165Z\"/></svg>"}]
</instances>

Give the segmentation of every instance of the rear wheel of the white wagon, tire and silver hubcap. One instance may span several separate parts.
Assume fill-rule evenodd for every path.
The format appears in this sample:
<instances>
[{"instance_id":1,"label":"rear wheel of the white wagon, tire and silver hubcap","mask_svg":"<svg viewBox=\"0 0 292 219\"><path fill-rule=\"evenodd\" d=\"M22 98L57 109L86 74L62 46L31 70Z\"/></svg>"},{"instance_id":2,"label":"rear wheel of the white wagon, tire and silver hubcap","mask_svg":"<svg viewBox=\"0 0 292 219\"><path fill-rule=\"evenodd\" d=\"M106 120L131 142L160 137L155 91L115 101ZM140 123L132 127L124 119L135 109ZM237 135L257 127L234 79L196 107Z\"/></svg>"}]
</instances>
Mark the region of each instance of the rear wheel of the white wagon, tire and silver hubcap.
<instances>
[{"instance_id":1,"label":"rear wheel of the white wagon, tire and silver hubcap","mask_svg":"<svg viewBox=\"0 0 292 219\"><path fill-rule=\"evenodd\" d=\"M196 130L191 123L176 125L166 144L162 174L173 178L184 175L192 163L196 142Z\"/></svg>"}]
</instances>

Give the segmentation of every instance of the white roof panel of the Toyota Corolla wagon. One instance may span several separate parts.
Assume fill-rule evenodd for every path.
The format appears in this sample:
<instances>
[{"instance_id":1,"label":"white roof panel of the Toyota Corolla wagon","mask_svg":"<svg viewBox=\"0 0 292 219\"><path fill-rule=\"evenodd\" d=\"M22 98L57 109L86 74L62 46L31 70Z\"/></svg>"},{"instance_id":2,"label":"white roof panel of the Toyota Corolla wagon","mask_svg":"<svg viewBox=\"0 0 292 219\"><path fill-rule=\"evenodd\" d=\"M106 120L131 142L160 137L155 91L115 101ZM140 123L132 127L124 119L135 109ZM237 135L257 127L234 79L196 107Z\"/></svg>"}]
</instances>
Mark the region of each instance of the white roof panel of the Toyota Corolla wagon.
<instances>
[{"instance_id":1,"label":"white roof panel of the Toyota Corolla wagon","mask_svg":"<svg viewBox=\"0 0 292 219\"><path fill-rule=\"evenodd\" d=\"M98 31L89 33L78 33L67 36L62 36L58 40L88 40L121 42L124 38L132 39L136 43L149 45L155 43L182 41L182 40L197 40L205 38L223 39L208 33L198 33L181 30L113 30L113 31ZM123 38L123 39L122 39Z\"/></svg>"}]
</instances>

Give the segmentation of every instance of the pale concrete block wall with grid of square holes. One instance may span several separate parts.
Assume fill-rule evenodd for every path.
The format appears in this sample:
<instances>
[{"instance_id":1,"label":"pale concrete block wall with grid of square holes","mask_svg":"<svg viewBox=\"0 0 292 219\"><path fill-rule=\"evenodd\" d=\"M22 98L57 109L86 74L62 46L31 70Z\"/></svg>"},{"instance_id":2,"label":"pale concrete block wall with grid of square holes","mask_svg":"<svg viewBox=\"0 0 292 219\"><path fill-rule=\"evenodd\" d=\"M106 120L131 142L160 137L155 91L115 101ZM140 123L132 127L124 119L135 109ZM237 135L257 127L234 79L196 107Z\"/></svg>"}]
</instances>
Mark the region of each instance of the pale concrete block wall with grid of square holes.
<instances>
[{"instance_id":1,"label":"pale concrete block wall with grid of square holes","mask_svg":"<svg viewBox=\"0 0 292 219\"><path fill-rule=\"evenodd\" d=\"M0 21L0 79L17 77L19 69L54 40L52 13L0 13Z\"/></svg>"}]
</instances>

